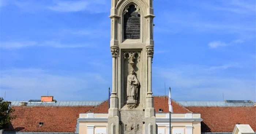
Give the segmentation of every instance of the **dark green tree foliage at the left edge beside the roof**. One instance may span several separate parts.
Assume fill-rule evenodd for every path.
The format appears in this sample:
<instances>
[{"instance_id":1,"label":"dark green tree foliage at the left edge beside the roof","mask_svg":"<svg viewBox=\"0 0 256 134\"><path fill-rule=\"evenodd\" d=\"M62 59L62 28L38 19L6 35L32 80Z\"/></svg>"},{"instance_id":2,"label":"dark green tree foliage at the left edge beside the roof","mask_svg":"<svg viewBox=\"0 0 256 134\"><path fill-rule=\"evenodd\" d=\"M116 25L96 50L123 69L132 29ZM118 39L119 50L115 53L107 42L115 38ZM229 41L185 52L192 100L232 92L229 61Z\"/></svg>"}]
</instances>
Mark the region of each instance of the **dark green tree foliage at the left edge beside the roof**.
<instances>
[{"instance_id":1,"label":"dark green tree foliage at the left edge beside the roof","mask_svg":"<svg viewBox=\"0 0 256 134\"><path fill-rule=\"evenodd\" d=\"M16 118L12 112L14 112L14 109L10 107L10 103L0 97L0 129L7 128L11 120Z\"/></svg>"}]
</instances>

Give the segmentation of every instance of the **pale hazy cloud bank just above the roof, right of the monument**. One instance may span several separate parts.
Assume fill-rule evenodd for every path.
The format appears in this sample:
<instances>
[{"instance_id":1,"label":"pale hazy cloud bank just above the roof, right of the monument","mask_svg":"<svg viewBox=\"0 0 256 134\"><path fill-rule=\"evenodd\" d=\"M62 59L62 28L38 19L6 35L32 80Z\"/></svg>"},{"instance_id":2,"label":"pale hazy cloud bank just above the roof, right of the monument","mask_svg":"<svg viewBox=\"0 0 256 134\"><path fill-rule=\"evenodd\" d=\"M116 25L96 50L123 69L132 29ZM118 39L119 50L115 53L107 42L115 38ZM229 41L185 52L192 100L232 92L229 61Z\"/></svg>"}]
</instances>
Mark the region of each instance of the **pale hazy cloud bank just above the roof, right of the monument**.
<instances>
[{"instance_id":1,"label":"pale hazy cloud bank just above the roof, right of the monument","mask_svg":"<svg viewBox=\"0 0 256 134\"><path fill-rule=\"evenodd\" d=\"M217 69L217 68L215 68ZM177 66L175 68L153 68L154 94L163 94L159 81L166 82L172 87L172 96L183 101L222 101L225 99L255 99L255 80L240 78L234 75L212 73L203 66ZM210 71L210 72L209 72ZM163 83L161 83L163 84ZM160 87L160 88L159 88Z\"/></svg>"}]
</instances>

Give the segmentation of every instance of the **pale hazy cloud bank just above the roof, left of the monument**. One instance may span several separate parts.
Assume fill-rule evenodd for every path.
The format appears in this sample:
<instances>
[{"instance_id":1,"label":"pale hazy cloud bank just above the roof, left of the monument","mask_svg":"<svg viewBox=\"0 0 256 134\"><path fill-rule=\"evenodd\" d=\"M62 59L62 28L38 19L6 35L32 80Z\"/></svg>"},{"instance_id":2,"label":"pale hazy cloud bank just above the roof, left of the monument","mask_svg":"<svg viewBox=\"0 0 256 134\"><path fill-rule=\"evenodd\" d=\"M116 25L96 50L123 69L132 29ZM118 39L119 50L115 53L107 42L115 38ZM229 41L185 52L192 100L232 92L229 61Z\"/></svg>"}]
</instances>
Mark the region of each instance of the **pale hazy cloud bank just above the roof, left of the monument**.
<instances>
[{"instance_id":1,"label":"pale hazy cloud bank just above the roof, left of the monument","mask_svg":"<svg viewBox=\"0 0 256 134\"><path fill-rule=\"evenodd\" d=\"M96 72L57 74L37 68L1 70L2 94L3 90L8 94L12 92L12 95L7 96L8 100L36 99L45 95L47 91L58 100L86 99L90 95L79 94L80 91L90 90L93 94L100 90L97 89L98 86L106 87L108 83L110 82Z\"/></svg>"}]
</instances>

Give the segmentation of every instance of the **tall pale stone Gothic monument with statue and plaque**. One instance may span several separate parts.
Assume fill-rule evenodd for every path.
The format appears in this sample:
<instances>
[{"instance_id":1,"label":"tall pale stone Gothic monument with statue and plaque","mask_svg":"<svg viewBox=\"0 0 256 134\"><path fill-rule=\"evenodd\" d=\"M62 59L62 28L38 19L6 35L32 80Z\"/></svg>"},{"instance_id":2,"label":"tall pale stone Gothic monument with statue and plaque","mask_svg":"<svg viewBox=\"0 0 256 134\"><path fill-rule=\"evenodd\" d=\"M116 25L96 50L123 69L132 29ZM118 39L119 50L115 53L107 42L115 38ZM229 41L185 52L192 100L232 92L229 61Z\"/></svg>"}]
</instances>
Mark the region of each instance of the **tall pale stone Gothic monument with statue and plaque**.
<instances>
[{"instance_id":1,"label":"tall pale stone Gothic monument with statue and plaque","mask_svg":"<svg viewBox=\"0 0 256 134\"><path fill-rule=\"evenodd\" d=\"M157 134L151 89L153 0L112 0L108 134Z\"/></svg>"}]
</instances>

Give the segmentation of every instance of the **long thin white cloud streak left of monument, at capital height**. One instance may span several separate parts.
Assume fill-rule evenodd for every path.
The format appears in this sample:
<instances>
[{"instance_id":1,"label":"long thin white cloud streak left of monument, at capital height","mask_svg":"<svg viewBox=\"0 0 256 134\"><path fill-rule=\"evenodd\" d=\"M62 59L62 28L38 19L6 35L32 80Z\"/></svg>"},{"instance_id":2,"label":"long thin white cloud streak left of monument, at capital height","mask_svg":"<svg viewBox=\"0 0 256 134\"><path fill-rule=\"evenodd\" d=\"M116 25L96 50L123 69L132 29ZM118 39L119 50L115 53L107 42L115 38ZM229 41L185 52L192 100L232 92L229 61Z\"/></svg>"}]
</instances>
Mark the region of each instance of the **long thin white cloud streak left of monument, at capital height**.
<instances>
[{"instance_id":1,"label":"long thin white cloud streak left of monument, at capital height","mask_svg":"<svg viewBox=\"0 0 256 134\"><path fill-rule=\"evenodd\" d=\"M53 47L53 48L87 48L94 47L94 43L80 43L80 44L62 44L56 41L46 41L38 43L34 41L21 41L21 42L2 42L1 48L3 49L21 49L29 47Z\"/></svg>"}]
</instances>

